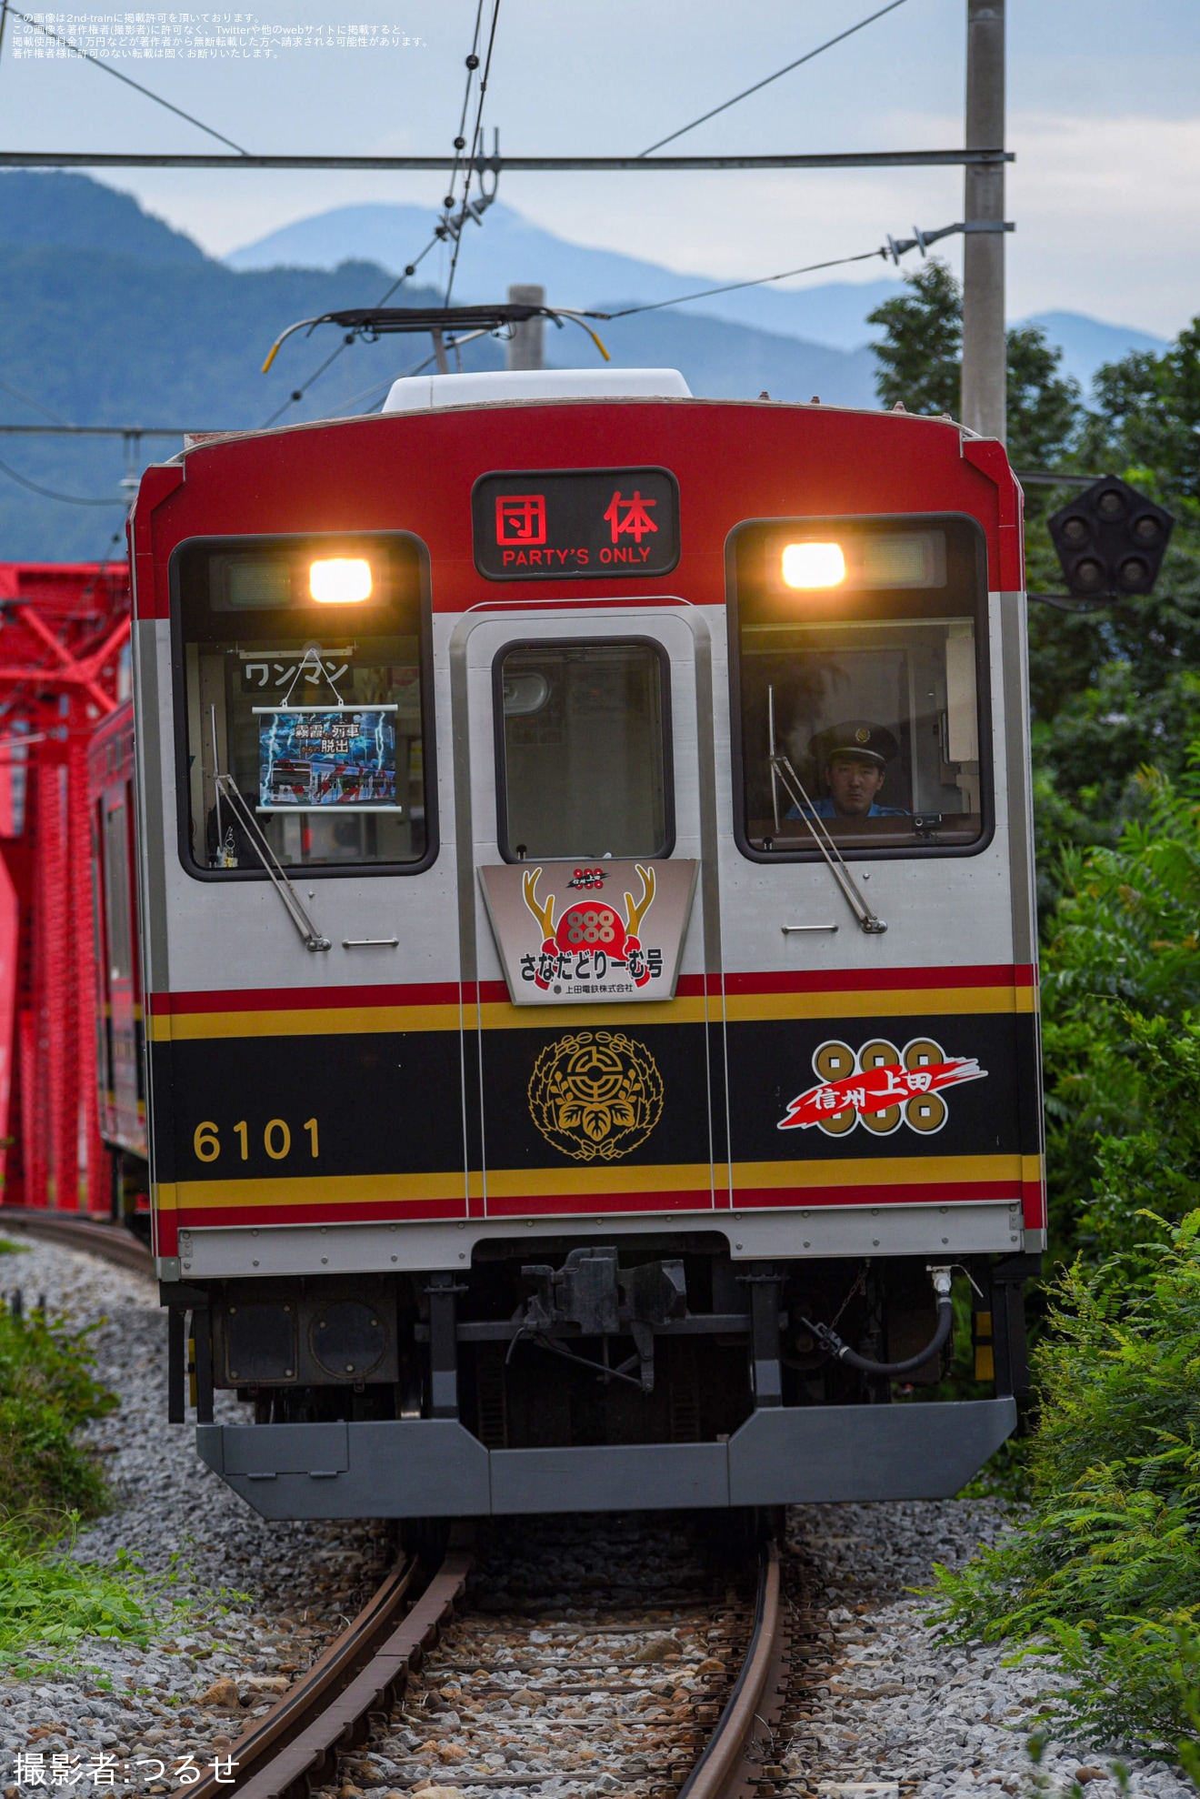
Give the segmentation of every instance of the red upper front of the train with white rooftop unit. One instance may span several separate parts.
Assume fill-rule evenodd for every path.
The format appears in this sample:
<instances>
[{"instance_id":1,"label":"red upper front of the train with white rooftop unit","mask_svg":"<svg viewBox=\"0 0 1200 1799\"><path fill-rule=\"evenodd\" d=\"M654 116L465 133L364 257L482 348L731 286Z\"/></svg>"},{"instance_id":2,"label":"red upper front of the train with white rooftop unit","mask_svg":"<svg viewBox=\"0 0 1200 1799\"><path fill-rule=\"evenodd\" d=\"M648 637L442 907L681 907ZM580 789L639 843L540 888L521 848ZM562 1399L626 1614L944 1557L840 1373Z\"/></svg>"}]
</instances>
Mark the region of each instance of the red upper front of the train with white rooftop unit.
<instances>
[{"instance_id":1,"label":"red upper front of the train with white rooftop unit","mask_svg":"<svg viewBox=\"0 0 1200 1799\"><path fill-rule=\"evenodd\" d=\"M991 588L1024 585L1022 493L999 441L950 417L700 399L685 387L662 369L423 376L392 410L193 439L142 479L133 534L153 579L139 559L137 615L169 613L167 563L189 538L362 531L423 541L435 612L596 604L596 581L497 586L473 558L471 493L486 475L567 470L657 468L676 482L678 567L639 581L637 595L630 570L610 595L619 604L671 594L723 604L730 533L752 518L966 513L988 538Z\"/></svg>"}]
</instances>

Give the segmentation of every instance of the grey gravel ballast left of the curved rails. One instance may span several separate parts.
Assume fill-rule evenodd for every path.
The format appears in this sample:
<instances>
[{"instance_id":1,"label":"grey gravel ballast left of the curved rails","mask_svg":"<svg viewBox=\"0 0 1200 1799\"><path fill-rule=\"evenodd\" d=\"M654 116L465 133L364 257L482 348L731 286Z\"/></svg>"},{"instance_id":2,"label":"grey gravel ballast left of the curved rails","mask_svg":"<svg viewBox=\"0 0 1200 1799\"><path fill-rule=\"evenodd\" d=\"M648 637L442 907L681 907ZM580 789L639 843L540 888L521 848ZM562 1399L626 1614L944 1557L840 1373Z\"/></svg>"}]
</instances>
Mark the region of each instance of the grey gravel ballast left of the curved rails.
<instances>
[{"instance_id":1,"label":"grey gravel ballast left of the curved rails","mask_svg":"<svg viewBox=\"0 0 1200 1799\"><path fill-rule=\"evenodd\" d=\"M160 1574L175 1556L178 1578L166 1590L185 1610L146 1651L85 1637L67 1651L31 1651L34 1664L58 1662L52 1673L2 1677L0 1792L175 1790L191 1768L209 1774L246 1720L345 1628L390 1562L389 1533L259 1518L200 1461L194 1430L167 1425L155 1283L56 1243L23 1243L25 1254L0 1256L0 1293L20 1286L25 1310L45 1295L50 1322L74 1329L101 1320L90 1338L95 1374L121 1398L121 1410L88 1430L117 1504L81 1531L76 1558L112 1563L126 1549ZM246 1409L218 1392L216 1416L245 1423ZM18 1754L41 1756L20 1785ZM72 1785L54 1779L63 1770Z\"/></svg>"}]
</instances>

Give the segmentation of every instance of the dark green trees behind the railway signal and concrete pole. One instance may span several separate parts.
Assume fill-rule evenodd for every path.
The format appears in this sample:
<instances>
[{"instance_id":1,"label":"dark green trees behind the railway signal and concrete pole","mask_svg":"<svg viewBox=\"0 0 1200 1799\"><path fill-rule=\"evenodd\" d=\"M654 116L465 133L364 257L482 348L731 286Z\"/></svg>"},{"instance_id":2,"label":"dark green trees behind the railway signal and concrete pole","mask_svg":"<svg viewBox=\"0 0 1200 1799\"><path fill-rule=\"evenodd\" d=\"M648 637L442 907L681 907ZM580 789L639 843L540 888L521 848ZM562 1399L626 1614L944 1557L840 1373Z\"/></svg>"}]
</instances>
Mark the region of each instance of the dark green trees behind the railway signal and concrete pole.
<instances>
[{"instance_id":1,"label":"dark green trees behind the railway signal and concrete pole","mask_svg":"<svg viewBox=\"0 0 1200 1799\"><path fill-rule=\"evenodd\" d=\"M963 295L943 263L871 313L883 327L880 399L957 412ZM1144 766L1178 777L1200 736L1200 320L1162 356L1101 369L1094 410L1031 326L1007 333L1009 457L1020 468L1124 475L1169 506L1177 531L1155 594L1076 613L1029 608L1038 900L1051 928L1063 849L1114 846L1144 811ZM1061 594L1045 529L1070 488L1025 493L1031 594Z\"/></svg>"}]
</instances>

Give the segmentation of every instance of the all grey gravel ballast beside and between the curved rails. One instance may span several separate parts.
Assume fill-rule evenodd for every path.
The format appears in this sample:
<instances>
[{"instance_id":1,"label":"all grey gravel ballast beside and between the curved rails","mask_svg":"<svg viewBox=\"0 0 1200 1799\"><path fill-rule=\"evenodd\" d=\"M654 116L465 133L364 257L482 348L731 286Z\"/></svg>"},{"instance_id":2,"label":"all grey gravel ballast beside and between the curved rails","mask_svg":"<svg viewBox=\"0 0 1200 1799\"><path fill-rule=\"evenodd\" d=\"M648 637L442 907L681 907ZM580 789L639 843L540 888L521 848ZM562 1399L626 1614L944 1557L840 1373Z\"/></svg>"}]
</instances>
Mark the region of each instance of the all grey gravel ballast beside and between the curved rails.
<instances>
[{"instance_id":1,"label":"all grey gravel ballast beside and between the curved rails","mask_svg":"<svg viewBox=\"0 0 1200 1799\"><path fill-rule=\"evenodd\" d=\"M149 1281L34 1241L25 1254L0 1256L0 1292L14 1286L27 1306L45 1295L50 1317L74 1328L103 1320L92 1337L97 1374L121 1398L121 1410L90 1432L117 1504L81 1533L76 1556L112 1563L126 1549L151 1574L176 1556L171 1592L187 1610L146 1651L88 1637L67 1657L41 1651L68 1668L0 1677L0 1795L175 1790L187 1779L178 1772L187 1758L207 1772L344 1628L387 1567L390 1535L372 1524L270 1524L203 1466L193 1430L166 1423L166 1317ZM218 1394L219 1418L245 1419L245 1409ZM1031 1792L1025 1722L1052 1669L1042 1660L1006 1668L1002 1646L939 1644L910 1592L928 1585L934 1562L964 1562L1006 1520L1000 1502L979 1500L788 1511L788 1560L815 1635L801 1720L772 1747L784 1774L781 1799L822 1788L837 1799L838 1788L874 1783L898 1786L901 1799ZM698 1702L714 1702L727 1669L736 1671L727 1644L738 1607L732 1594L725 1616L714 1603L703 1633L694 1621L680 1624L687 1607L671 1598L660 1569L653 1581L637 1576L630 1524L594 1520L615 1560L633 1571L626 1590L604 1583L594 1562L581 1565L578 1536L558 1520L506 1526L511 1547L524 1551L515 1590L491 1572L477 1585L480 1633L470 1644L488 1680L444 1666L444 1680L414 1687L387 1750L380 1743L376 1754L344 1763L340 1799L457 1799L464 1786L475 1788L471 1799L666 1792L658 1783L671 1768L678 1779ZM527 1598L531 1563L545 1594L540 1642L509 1619ZM520 1653L525 1641L533 1657ZM27 1763L20 1783L18 1756ZM1079 1767L1108 1772L1114 1759L1112 1745L1051 1741L1042 1772L1052 1792L1065 1792ZM1193 1794L1160 1761L1126 1767L1137 1795ZM1115 1781L1088 1781L1088 1799L1117 1799Z\"/></svg>"}]
</instances>

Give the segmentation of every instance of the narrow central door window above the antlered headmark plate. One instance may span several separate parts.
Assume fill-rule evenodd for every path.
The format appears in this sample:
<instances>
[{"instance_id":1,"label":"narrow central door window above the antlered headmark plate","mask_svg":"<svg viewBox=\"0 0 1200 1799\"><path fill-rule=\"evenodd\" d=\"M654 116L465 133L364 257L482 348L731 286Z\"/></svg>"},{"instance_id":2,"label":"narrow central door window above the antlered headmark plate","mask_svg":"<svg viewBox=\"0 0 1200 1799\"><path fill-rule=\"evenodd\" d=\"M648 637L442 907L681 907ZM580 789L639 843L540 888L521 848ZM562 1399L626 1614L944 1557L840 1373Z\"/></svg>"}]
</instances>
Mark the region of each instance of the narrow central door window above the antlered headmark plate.
<instances>
[{"instance_id":1,"label":"narrow central door window above the antlered headmark plate","mask_svg":"<svg viewBox=\"0 0 1200 1799\"><path fill-rule=\"evenodd\" d=\"M669 855L669 685L657 644L509 646L495 662L495 707L509 862Z\"/></svg>"}]
</instances>

